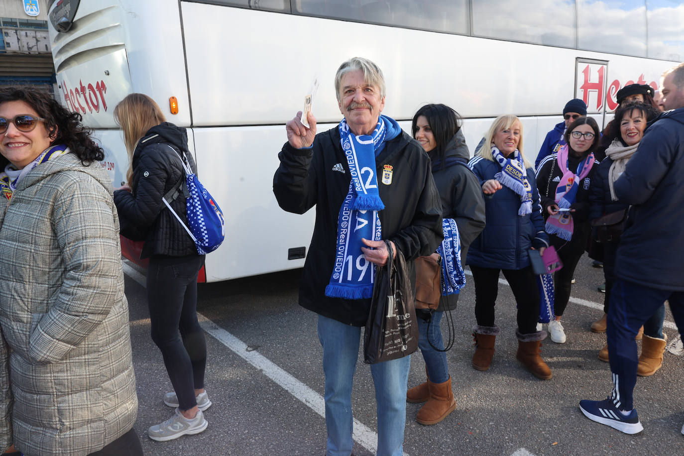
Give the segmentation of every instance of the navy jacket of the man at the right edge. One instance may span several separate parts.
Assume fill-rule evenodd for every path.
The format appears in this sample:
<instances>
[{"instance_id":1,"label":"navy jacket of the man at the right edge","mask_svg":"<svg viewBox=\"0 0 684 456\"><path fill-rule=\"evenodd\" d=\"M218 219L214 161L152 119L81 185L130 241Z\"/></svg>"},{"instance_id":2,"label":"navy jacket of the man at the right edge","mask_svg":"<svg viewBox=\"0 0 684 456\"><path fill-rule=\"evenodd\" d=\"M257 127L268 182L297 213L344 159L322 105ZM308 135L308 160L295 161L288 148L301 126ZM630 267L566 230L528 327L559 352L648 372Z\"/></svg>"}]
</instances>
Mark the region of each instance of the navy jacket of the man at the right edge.
<instances>
[{"instance_id":1,"label":"navy jacket of the man at the right edge","mask_svg":"<svg viewBox=\"0 0 684 456\"><path fill-rule=\"evenodd\" d=\"M684 107L651 124L614 189L631 204L615 273L653 289L684 291Z\"/></svg>"}]
</instances>

